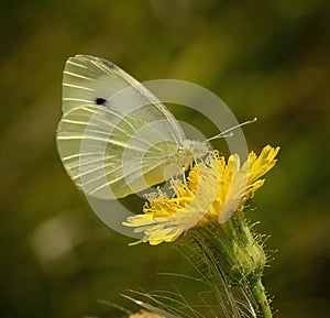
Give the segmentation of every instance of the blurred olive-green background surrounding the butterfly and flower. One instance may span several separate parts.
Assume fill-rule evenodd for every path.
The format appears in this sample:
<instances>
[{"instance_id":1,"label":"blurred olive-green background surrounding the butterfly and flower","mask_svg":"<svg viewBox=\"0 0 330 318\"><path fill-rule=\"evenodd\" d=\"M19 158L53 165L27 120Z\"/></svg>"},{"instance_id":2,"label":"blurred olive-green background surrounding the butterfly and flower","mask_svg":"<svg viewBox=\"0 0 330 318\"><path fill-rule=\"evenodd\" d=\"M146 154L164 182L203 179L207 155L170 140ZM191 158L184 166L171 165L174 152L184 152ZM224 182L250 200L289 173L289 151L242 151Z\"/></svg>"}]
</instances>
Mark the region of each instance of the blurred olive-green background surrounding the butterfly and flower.
<instances>
[{"instance_id":1,"label":"blurred olive-green background surrounding the butterfly and flower","mask_svg":"<svg viewBox=\"0 0 330 318\"><path fill-rule=\"evenodd\" d=\"M1 317L120 316L97 300L122 305L128 288L157 289L154 273L189 272L170 244L128 246L66 175L55 130L78 53L196 83L240 121L258 118L249 147L282 147L251 212L278 250L273 307L329 317L329 1L3 0L0 14Z\"/></svg>"}]
</instances>

